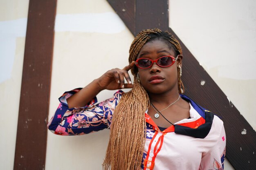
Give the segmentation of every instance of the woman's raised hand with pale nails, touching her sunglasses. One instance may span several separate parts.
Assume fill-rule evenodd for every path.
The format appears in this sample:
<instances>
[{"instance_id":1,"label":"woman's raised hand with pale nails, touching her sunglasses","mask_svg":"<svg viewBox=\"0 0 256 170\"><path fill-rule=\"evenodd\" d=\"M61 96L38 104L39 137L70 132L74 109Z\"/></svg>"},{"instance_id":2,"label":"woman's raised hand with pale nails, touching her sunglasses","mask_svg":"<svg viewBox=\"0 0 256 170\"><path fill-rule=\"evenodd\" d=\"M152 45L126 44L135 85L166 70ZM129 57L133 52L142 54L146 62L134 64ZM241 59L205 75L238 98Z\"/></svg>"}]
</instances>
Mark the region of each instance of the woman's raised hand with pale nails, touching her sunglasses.
<instances>
[{"instance_id":1,"label":"woman's raised hand with pale nails, touching her sunglasses","mask_svg":"<svg viewBox=\"0 0 256 170\"><path fill-rule=\"evenodd\" d=\"M120 88L132 88L131 78L128 71L134 66L135 62L131 62L128 66L123 69L114 68L104 73L97 80L97 84L100 90L117 90ZM126 84L124 79L128 82Z\"/></svg>"}]
</instances>

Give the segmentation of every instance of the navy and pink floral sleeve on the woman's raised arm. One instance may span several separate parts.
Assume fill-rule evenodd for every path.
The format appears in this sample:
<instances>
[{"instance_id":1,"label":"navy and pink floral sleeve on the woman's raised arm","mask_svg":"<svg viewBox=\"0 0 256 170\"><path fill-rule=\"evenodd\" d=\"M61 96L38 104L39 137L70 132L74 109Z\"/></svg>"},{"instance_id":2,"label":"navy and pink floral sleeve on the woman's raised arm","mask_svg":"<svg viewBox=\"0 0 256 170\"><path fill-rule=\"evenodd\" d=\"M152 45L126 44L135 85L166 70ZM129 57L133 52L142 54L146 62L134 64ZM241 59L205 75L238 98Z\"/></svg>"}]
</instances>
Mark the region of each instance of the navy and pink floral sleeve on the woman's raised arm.
<instances>
[{"instance_id":1,"label":"navy and pink floral sleeve on the woman's raised arm","mask_svg":"<svg viewBox=\"0 0 256 170\"><path fill-rule=\"evenodd\" d=\"M119 103L123 91L117 91L114 96L97 103L94 97L86 106L68 108L67 98L74 95L81 88L65 92L60 98L60 104L50 119L47 127L57 135L83 135L108 128L112 121L112 114Z\"/></svg>"}]
</instances>

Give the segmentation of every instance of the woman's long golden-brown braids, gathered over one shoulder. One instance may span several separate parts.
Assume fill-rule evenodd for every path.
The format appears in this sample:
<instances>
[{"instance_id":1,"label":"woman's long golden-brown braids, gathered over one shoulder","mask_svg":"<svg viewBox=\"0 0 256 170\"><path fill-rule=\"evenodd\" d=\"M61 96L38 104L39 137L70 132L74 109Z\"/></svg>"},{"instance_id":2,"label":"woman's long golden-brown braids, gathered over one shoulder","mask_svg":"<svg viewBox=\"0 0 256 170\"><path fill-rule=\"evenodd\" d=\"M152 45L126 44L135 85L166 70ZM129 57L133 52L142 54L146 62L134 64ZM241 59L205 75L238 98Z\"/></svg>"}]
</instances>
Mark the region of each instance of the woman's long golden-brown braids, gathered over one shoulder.
<instances>
[{"instance_id":1,"label":"woman's long golden-brown braids, gathered over one shoulder","mask_svg":"<svg viewBox=\"0 0 256 170\"><path fill-rule=\"evenodd\" d=\"M174 49L176 56L182 54L180 43L170 33L160 29L141 31L130 46L129 63L137 60L137 55L147 42L162 40ZM184 92L180 68L178 70L179 93ZM138 69L131 69L134 75L134 85L131 91L122 95L113 114L110 140L103 162L104 170L139 170L146 138L145 110L150 106L147 92L141 86L137 77Z\"/></svg>"}]
</instances>

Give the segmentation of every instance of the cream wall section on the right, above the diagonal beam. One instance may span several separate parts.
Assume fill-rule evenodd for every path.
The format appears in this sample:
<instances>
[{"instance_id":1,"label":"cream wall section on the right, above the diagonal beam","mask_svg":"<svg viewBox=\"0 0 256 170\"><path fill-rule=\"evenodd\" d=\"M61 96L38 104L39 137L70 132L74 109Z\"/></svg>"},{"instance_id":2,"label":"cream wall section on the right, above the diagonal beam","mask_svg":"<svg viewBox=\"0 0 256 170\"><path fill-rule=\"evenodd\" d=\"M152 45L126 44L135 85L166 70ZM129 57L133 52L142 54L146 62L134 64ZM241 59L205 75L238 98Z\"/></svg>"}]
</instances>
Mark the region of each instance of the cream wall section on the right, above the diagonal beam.
<instances>
[{"instance_id":1,"label":"cream wall section on the right, above the diagonal beam","mask_svg":"<svg viewBox=\"0 0 256 170\"><path fill-rule=\"evenodd\" d=\"M255 9L255 0L169 0L169 26L254 130Z\"/></svg>"}]
</instances>

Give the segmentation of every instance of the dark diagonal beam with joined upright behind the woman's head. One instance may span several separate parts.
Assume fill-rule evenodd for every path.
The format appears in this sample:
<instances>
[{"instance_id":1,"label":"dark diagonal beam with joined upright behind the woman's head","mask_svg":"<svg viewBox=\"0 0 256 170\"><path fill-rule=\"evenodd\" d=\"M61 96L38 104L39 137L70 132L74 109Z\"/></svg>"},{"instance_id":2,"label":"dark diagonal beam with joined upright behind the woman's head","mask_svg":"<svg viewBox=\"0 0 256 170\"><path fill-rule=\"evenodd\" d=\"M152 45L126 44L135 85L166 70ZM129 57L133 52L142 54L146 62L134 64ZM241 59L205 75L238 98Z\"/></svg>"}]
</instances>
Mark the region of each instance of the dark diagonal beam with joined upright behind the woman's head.
<instances>
[{"instance_id":1,"label":"dark diagonal beam with joined upright behind the woman's head","mask_svg":"<svg viewBox=\"0 0 256 170\"><path fill-rule=\"evenodd\" d=\"M121 11L126 7L126 11L117 12L117 14L121 19L124 18L123 21L128 28L132 28L130 31L133 35L142 29L158 27L162 30L169 30L179 40L184 55L182 81L185 84L186 95L222 117L227 135L226 157L232 166L237 170L255 169L256 132L236 107L228 101L227 96L200 66L173 30L168 27L168 0L132 0L132 4L135 6L129 6L129 8L125 6L126 1L124 0L115 0L115 5L112 1L114 0L108 0L115 11ZM130 18L135 18L135 22L127 22L126 13L129 14ZM200 85L201 81L206 82L204 86ZM247 130L246 135L241 134L243 129Z\"/></svg>"}]
</instances>

